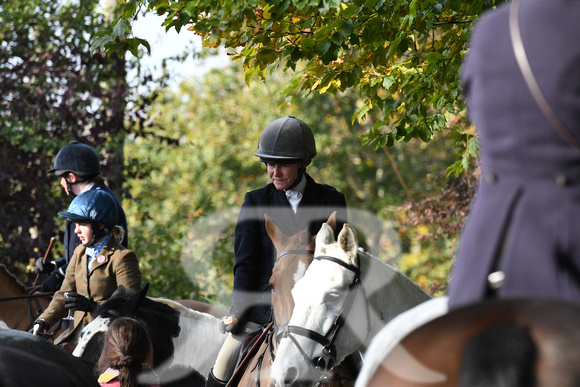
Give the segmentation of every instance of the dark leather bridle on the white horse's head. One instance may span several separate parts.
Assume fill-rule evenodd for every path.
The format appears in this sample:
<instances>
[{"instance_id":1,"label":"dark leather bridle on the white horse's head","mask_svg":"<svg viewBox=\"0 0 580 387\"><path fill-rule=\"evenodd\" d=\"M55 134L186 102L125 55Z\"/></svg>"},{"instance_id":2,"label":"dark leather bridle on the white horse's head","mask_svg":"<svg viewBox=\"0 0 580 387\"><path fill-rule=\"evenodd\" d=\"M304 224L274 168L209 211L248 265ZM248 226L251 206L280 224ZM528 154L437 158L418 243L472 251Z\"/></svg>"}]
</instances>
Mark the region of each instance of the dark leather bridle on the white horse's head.
<instances>
[{"instance_id":1,"label":"dark leather bridle on the white horse's head","mask_svg":"<svg viewBox=\"0 0 580 387\"><path fill-rule=\"evenodd\" d=\"M296 346L298 351L300 351L300 353L302 354L302 357L309 364L311 364L314 368L319 369L323 372L328 372L332 368L334 368L334 366L336 365L335 363L336 363L337 352L336 352L335 341L336 341L336 338L338 337L338 333L339 333L340 329L344 326L344 323L346 321L346 316L348 316L348 314L350 313L350 310L352 309L352 306L354 305L354 300L356 297L357 290L362 292L364 299L365 299L366 320L367 320L367 336L370 332L369 304L368 304L368 302L366 302L366 292L364 290L364 287L362 286L362 283L360 282L361 272L357 266L352 265L352 264L348 264L340 259L337 259L337 258L334 258L331 256L327 256L327 255L317 256L317 257L314 257L313 259L320 260L320 261L325 260L325 261L333 262L333 263L340 265L343 268L350 270L354 273L354 278L348 287L348 294L346 296L346 300L342 306L340 313L338 314L338 316L336 316L332 326L330 327L330 329L328 330L328 332L324 336L321 335L320 333L315 332L315 331L310 330L310 329L302 328L302 327L299 327L296 325L285 324L282 327L280 327L280 329L278 330L277 340L279 341L280 339L285 338L285 337L290 338L290 340L292 340L292 342L294 343L294 345ZM296 335L306 337L308 339L314 340L317 343L321 344L322 345L322 355L317 357L317 358L314 358L314 359L308 358L308 355L306 354L304 349L298 343L298 340L295 337Z\"/></svg>"}]
</instances>

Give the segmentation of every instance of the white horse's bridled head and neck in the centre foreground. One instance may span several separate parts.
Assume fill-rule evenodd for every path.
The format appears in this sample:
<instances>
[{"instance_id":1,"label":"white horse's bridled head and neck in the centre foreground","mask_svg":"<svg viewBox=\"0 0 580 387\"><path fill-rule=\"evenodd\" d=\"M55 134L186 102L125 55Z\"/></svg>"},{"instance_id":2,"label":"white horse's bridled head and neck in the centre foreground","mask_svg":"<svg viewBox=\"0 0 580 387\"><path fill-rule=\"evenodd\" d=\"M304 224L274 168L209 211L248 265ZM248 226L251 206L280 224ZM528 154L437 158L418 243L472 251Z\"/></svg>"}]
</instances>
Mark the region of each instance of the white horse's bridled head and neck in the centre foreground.
<instances>
[{"instance_id":1,"label":"white horse's bridled head and neck in the centre foreground","mask_svg":"<svg viewBox=\"0 0 580 387\"><path fill-rule=\"evenodd\" d=\"M336 242L332 229L322 225L314 260L292 296L294 312L272 364L276 386L316 379L348 355L364 351L395 316L431 298L404 274L359 249L348 224Z\"/></svg>"}]
</instances>

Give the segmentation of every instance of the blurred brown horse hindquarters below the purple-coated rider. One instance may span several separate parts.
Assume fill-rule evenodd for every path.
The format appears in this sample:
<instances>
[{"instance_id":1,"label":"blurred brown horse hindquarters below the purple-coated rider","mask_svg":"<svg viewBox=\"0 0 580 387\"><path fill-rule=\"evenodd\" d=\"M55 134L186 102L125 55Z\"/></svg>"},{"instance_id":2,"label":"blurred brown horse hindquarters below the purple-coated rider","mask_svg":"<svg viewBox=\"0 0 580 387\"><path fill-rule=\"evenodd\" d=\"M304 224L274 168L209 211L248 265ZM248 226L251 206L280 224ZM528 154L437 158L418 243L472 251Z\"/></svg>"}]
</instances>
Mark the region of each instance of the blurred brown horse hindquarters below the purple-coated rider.
<instances>
[{"instance_id":1,"label":"blurred brown horse hindquarters below the purple-coated rider","mask_svg":"<svg viewBox=\"0 0 580 387\"><path fill-rule=\"evenodd\" d=\"M357 387L572 387L580 385L578 364L580 305L495 300L415 329Z\"/></svg>"}]
</instances>

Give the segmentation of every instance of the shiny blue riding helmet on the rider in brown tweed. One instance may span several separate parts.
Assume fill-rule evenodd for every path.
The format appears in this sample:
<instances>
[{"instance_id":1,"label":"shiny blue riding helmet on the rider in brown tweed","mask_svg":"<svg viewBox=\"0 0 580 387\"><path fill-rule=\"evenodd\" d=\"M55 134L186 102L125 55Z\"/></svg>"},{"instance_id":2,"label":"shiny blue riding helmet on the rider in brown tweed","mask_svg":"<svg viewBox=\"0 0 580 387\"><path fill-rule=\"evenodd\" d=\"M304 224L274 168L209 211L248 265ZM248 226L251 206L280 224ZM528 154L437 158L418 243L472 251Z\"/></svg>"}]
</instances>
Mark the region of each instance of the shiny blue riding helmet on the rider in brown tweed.
<instances>
[{"instance_id":1,"label":"shiny blue riding helmet on the rider in brown tweed","mask_svg":"<svg viewBox=\"0 0 580 387\"><path fill-rule=\"evenodd\" d=\"M102 223L111 230L119 221L115 199L102 189L81 193L60 216L77 223Z\"/></svg>"}]
</instances>

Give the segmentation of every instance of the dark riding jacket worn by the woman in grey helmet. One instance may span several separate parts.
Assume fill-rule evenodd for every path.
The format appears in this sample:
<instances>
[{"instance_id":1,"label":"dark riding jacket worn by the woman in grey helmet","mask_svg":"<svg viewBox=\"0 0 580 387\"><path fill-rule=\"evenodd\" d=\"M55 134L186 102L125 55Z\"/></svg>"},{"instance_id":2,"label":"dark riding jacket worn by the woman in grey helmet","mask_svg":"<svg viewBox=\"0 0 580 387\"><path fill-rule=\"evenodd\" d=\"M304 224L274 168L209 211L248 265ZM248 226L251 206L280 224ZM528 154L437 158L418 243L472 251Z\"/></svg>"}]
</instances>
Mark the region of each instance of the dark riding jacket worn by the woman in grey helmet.
<instances>
[{"instance_id":1,"label":"dark riding jacket worn by the woman in grey helmet","mask_svg":"<svg viewBox=\"0 0 580 387\"><path fill-rule=\"evenodd\" d=\"M274 184L248 192L240 210L235 229L233 304L254 305L249 309L249 321L263 324L271 318L271 292L268 287L278 254L266 232L264 214L286 234L309 228L316 235L322 223L337 211L337 234L347 221L346 199L335 188L318 184L308 174L306 188L296 214L284 191Z\"/></svg>"}]
</instances>

